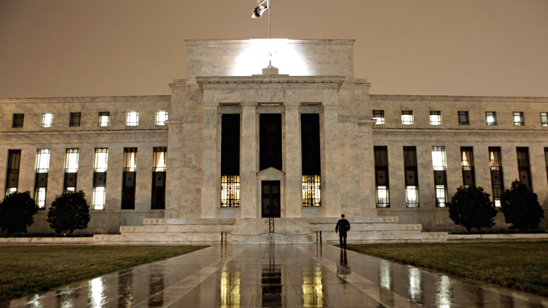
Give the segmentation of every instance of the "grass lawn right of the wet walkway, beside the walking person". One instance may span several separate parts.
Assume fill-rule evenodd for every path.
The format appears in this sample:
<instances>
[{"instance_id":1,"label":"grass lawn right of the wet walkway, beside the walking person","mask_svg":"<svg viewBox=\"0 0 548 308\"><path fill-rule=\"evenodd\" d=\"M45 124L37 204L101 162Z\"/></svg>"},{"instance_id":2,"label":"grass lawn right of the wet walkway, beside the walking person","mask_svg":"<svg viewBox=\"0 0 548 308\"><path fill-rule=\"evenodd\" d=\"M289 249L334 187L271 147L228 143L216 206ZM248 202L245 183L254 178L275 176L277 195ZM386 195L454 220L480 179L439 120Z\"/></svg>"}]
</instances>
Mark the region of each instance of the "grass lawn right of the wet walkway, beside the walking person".
<instances>
[{"instance_id":1,"label":"grass lawn right of the wet walkway, beside the walking person","mask_svg":"<svg viewBox=\"0 0 548 308\"><path fill-rule=\"evenodd\" d=\"M548 242L374 244L347 248L548 296Z\"/></svg>"}]
</instances>

